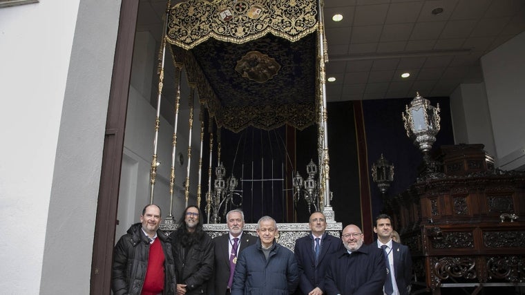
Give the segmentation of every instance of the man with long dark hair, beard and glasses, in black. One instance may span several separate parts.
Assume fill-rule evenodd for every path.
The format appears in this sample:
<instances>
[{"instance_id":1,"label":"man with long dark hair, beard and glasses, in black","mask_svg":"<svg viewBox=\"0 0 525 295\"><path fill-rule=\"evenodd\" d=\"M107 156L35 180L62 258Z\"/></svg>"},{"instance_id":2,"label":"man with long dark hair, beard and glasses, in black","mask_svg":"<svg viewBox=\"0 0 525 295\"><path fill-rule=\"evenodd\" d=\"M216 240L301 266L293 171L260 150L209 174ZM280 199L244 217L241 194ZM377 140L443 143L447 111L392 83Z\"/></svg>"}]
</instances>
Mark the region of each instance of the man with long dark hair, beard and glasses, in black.
<instances>
[{"instance_id":1,"label":"man with long dark hair, beard and glasses, in black","mask_svg":"<svg viewBox=\"0 0 525 295\"><path fill-rule=\"evenodd\" d=\"M187 207L178 225L178 229L169 236L175 260L176 294L209 294L208 281L213 275L213 245L210 236L202 229L200 209Z\"/></svg>"}]
</instances>

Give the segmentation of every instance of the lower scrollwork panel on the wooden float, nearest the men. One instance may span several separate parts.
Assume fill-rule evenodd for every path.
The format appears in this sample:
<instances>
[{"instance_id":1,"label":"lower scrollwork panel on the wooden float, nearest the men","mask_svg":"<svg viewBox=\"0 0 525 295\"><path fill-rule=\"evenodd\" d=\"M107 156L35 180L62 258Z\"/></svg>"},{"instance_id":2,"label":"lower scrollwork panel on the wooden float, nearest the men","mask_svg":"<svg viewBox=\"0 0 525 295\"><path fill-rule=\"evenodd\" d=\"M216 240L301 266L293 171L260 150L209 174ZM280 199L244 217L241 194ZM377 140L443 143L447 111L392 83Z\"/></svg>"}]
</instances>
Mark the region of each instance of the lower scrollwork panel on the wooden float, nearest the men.
<instances>
[{"instance_id":1,"label":"lower scrollwork panel on the wooden float, nearest the men","mask_svg":"<svg viewBox=\"0 0 525 295\"><path fill-rule=\"evenodd\" d=\"M432 258L434 272L441 280L452 278L476 278L476 261L470 257Z\"/></svg>"}]
</instances>

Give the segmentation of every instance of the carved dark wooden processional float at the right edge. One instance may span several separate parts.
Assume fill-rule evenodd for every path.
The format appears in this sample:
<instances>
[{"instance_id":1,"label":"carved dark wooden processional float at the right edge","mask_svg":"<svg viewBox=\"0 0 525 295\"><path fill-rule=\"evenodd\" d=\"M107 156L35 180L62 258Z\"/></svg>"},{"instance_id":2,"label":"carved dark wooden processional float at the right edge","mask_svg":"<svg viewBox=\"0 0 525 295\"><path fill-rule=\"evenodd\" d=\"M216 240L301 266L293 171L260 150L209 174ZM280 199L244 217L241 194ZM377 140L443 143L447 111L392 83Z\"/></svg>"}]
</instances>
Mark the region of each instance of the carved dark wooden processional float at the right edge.
<instances>
[{"instance_id":1,"label":"carved dark wooden processional float at the right edge","mask_svg":"<svg viewBox=\"0 0 525 295\"><path fill-rule=\"evenodd\" d=\"M415 278L437 293L525 283L525 173L494 170L482 147L442 149L446 173L419 179L388 204Z\"/></svg>"}]
</instances>

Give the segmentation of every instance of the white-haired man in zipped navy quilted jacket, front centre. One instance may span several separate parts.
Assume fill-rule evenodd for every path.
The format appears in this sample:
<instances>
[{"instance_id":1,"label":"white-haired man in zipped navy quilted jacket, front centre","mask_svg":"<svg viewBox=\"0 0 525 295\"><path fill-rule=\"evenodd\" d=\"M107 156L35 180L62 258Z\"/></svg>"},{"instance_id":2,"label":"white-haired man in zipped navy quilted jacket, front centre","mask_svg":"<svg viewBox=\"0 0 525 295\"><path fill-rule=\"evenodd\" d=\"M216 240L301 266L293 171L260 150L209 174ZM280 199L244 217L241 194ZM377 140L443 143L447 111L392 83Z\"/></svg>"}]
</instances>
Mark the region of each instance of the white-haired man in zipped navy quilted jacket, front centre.
<instances>
[{"instance_id":1,"label":"white-haired man in zipped navy quilted jacket, front centre","mask_svg":"<svg viewBox=\"0 0 525 295\"><path fill-rule=\"evenodd\" d=\"M292 294L299 281L294 253L279 245L274 218L263 216L257 222L259 239L240 252L233 274L231 295Z\"/></svg>"}]
</instances>

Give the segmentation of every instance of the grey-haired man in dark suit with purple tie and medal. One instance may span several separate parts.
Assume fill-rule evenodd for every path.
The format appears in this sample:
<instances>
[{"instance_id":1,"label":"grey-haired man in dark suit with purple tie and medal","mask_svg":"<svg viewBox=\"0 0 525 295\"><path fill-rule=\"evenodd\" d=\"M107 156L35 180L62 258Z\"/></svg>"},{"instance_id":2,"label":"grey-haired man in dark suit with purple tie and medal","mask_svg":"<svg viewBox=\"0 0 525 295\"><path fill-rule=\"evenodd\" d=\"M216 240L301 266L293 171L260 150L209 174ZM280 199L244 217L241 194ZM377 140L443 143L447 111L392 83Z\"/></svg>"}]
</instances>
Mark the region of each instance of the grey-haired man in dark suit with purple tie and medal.
<instances>
[{"instance_id":1,"label":"grey-haired man in dark suit with purple tie and medal","mask_svg":"<svg viewBox=\"0 0 525 295\"><path fill-rule=\"evenodd\" d=\"M229 233L213 238L215 248L215 270L213 276L214 295L230 293L233 271L240 251L249 245L254 245L257 237L243 234L245 214L240 209L234 209L226 214Z\"/></svg>"}]
</instances>

